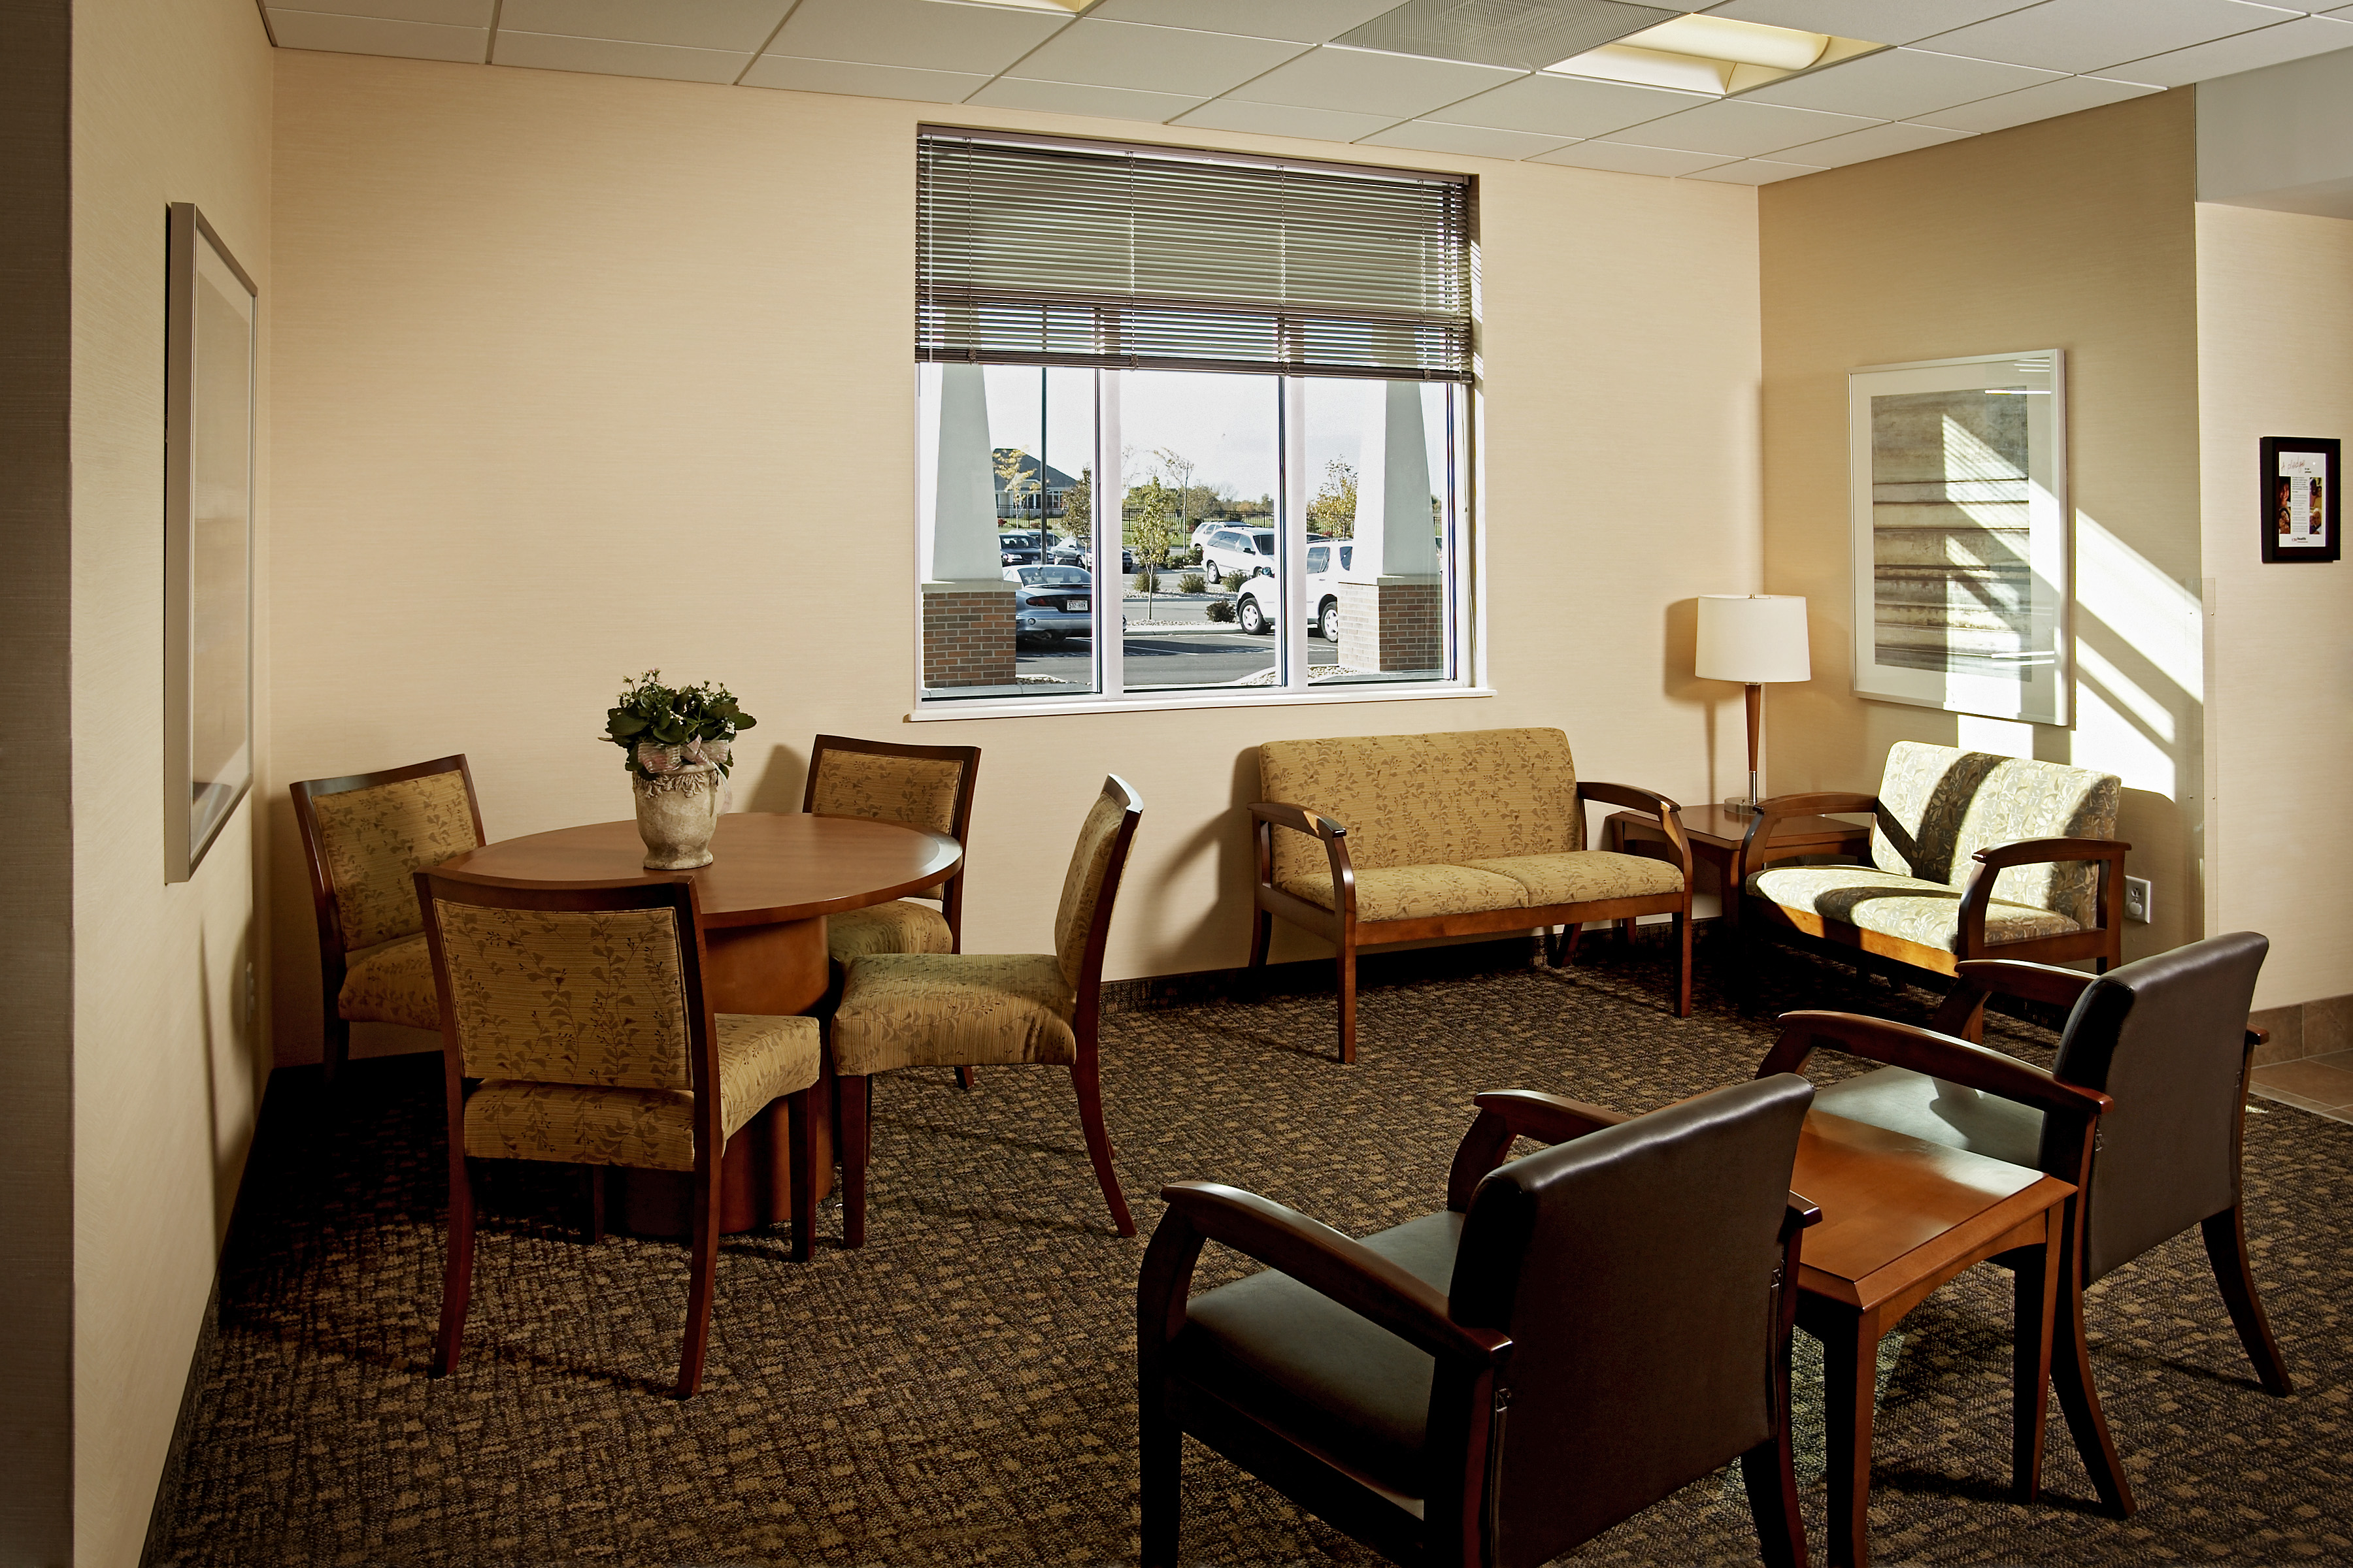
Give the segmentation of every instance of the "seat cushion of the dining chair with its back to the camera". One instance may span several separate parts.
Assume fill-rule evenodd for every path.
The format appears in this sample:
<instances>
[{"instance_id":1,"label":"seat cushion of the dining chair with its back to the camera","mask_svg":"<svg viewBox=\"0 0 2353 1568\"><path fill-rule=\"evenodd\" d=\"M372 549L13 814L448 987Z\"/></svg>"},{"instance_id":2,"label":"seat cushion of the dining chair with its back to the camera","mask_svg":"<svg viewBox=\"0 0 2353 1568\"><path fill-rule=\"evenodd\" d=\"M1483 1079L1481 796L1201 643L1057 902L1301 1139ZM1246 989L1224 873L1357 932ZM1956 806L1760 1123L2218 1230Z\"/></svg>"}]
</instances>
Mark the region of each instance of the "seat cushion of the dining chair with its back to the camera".
<instances>
[{"instance_id":1,"label":"seat cushion of the dining chair with its back to the camera","mask_svg":"<svg viewBox=\"0 0 2353 1568\"><path fill-rule=\"evenodd\" d=\"M720 1138L776 1098L816 1081L814 1018L718 1013ZM576 1166L694 1168L694 1095L685 1088L612 1088L489 1079L466 1100L466 1152L478 1159L555 1159Z\"/></svg>"}]
</instances>

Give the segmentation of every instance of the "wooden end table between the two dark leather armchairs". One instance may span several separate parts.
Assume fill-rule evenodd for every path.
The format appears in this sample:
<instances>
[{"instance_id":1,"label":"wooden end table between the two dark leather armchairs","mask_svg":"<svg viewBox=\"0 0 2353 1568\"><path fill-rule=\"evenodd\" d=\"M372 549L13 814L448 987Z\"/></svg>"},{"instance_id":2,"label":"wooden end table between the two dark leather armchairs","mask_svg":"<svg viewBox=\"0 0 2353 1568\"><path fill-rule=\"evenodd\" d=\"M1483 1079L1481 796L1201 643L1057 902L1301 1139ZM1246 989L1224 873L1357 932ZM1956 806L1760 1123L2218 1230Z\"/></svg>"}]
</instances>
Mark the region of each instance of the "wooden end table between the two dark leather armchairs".
<instances>
[{"instance_id":1,"label":"wooden end table between the two dark leather armchairs","mask_svg":"<svg viewBox=\"0 0 2353 1568\"><path fill-rule=\"evenodd\" d=\"M1880 1338L1937 1286L1998 1253L2009 1253L2017 1272L2009 1479L2014 1495L2033 1502L2042 1490L2059 1241L2075 1187L1819 1110L1798 1133L1788 1185L1821 1206L1798 1260L1798 1326L1821 1340L1831 1568L1871 1561Z\"/></svg>"}]
</instances>

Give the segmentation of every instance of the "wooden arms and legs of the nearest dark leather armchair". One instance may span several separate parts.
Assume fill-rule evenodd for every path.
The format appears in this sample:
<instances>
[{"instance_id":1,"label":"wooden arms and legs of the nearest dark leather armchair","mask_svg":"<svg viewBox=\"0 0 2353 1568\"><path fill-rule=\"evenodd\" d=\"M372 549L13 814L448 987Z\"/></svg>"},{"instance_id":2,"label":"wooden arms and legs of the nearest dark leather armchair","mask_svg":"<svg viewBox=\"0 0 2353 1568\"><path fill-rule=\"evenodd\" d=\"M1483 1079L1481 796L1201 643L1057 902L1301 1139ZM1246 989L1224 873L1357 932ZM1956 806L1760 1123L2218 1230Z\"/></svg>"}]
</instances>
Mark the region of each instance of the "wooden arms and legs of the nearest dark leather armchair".
<instances>
[{"instance_id":1,"label":"wooden arms and legs of the nearest dark leather armchair","mask_svg":"<svg viewBox=\"0 0 2353 1568\"><path fill-rule=\"evenodd\" d=\"M1480 1180L1506 1164L1515 1138L1567 1143L1631 1117L1525 1088L1478 1095L1478 1119L1454 1150L1447 1211L1466 1213ZM1511 1406L1511 1335L1452 1316L1447 1293L1329 1225L1219 1182L1169 1182L1136 1284L1136 1401L1144 1467L1144 1563L1174 1568L1181 1523L1181 1448L1191 1432L1287 1497L1398 1563L1457 1568L1492 1563L1497 1497L1492 1458ZM1805 1568L1805 1526L1791 1467L1788 1335L1798 1309L1798 1244L1821 1211L1795 1192L1781 1222L1774 1331L1784 1347L1769 1389L1784 1441L1741 1455L1765 1561ZM1306 1448L1224 1399L1186 1385L1172 1342L1200 1248L1219 1241L1264 1262L1438 1361L1428 1410L1428 1495L1421 1507L1337 1458ZM1762 1453L1777 1448L1779 1462Z\"/></svg>"}]
</instances>

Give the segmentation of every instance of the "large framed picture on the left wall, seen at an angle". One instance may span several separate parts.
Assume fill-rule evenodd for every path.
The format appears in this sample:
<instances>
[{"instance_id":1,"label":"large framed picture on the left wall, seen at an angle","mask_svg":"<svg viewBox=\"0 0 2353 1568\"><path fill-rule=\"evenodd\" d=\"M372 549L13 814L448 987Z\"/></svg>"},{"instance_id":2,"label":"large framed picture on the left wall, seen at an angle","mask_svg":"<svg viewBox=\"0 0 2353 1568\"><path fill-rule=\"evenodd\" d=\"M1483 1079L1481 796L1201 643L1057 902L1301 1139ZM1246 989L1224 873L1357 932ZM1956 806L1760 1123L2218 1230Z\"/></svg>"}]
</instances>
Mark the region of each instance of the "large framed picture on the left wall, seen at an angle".
<instances>
[{"instance_id":1,"label":"large framed picture on the left wall, seen at an angle","mask_svg":"<svg viewBox=\"0 0 2353 1568\"><path fill-rule=\"evenodd\" d=\"M165 882L254 783L254 343L261 292L193 202L165 259Z\"/></svg>"}]
</instances>

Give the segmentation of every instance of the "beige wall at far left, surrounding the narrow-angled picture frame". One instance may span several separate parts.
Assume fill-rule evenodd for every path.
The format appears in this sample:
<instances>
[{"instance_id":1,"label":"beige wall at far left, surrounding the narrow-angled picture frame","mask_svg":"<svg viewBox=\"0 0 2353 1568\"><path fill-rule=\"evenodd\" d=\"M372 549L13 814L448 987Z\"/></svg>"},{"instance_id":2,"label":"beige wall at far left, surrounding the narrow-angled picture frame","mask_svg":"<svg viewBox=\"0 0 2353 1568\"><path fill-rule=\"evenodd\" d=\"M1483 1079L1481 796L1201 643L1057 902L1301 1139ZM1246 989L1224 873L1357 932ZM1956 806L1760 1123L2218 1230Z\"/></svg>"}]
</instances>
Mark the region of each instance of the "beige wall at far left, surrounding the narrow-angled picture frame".
<instances>
[{"instance_id":1,"label":"beige wall at far left, surrounding the narrow-angled picture frame","mask_svg":"<svg viewBox=\"0 0 2353 1568\"><path fill-rule=\"evenodd\" d=\"M242 1018L252 804L193 882L162 879L167 202L245 263L266 331L271 49L249 0L73 16L75 1563L139 1559L268 1067ZM266 451L264 433L264 498ZM266 724L266 684L256 708Z\"/></svg>"}]
</instances>

